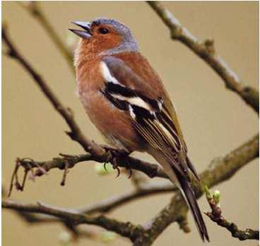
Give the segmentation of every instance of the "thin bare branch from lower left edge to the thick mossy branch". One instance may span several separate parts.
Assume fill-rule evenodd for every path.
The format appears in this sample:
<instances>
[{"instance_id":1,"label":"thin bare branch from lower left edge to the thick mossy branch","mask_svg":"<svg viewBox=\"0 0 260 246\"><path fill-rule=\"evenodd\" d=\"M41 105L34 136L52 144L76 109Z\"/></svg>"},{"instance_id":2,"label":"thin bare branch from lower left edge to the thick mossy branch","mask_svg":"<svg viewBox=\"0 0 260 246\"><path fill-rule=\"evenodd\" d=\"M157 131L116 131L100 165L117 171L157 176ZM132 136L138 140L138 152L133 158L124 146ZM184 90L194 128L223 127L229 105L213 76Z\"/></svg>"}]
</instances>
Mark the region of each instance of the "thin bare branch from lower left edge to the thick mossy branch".
<instances>
[{"instance_id":1,"label":"thin bare branch from lower left edge to the thick mossy branch","mask_svg":"<svg viewBox=\"0 0 260 246\"><path fill-rule=\"evenodd\" d=\"M30 213L43 213L50 216L55 216L63 221L69 221L75 225L98 225L106 230L114 231L123 237L134 240L139 233L142 233L142 228L130 222L120 222L105 216L87 216L83 213L78 213L71 209L58 209L52 206L47 206L42 203L37 204L21 204L18 201L2 201L2 207L13 209L15 211L23 211Z\"/></svg>"}]
</instances>

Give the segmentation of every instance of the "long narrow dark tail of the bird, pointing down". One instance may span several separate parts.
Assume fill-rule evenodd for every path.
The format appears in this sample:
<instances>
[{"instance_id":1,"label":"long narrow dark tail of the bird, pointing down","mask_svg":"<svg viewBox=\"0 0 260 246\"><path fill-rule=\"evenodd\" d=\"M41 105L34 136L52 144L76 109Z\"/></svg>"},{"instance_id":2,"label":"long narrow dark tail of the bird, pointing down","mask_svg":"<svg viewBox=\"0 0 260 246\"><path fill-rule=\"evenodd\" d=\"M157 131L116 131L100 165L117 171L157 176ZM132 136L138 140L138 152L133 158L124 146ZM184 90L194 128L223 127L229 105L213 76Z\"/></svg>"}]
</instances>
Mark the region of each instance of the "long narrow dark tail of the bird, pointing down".
<instances>
[{"instance_id":1,"label":"long narrow dark tail of the bird, pointing down","mask_svg":"<svg viewBox=\"0 0 260 246\"><path fill-rule=\"evenodd\" d=\"M201 215L201 210L199 209L199 206L197 204L196 197L194 195L193 189L191 188L191 185L189 184L189 182L186 180L185 177L182 177L182 175L179 175L177 172L175 172L175 175L179 182L182 194L183 194L184 198L186 199L187 204L189 205L189 208L191 209L191 213L194 217L196 227L199 230L199 234L201 235L201 239L204 242L204 240L206 238L206 240L208 240L208 242L209 242L208 231L207 231L206 225L203 221L203 218Z\"/></svg>"}]
</instances>

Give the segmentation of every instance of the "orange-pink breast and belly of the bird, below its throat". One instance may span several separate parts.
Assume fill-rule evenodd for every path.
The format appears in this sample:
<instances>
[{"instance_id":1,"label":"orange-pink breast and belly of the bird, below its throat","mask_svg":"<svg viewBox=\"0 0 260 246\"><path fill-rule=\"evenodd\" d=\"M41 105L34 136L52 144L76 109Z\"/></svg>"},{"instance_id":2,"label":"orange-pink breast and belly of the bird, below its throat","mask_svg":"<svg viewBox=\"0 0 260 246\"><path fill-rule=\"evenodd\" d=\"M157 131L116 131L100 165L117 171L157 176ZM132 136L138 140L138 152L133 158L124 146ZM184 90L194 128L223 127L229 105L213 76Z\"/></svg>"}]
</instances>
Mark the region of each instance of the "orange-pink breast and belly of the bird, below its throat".
<instances>
[{"instance_id":1,"label":"orange-pink breast and belly of the bird, below its throat","mask_svg":"<svg viewBox=\"0 0 260 246\"><path fill-rule=\"evenodd\" d=\"M129 151L144 151L146 144L136 134L129 115L114 107L100 92L100 89L105 86L100 74L100 59L78 66L76 72L78 94L85 112L95 127L111 144L119 148L124 146Z\"/></svg>"}]
</instances>

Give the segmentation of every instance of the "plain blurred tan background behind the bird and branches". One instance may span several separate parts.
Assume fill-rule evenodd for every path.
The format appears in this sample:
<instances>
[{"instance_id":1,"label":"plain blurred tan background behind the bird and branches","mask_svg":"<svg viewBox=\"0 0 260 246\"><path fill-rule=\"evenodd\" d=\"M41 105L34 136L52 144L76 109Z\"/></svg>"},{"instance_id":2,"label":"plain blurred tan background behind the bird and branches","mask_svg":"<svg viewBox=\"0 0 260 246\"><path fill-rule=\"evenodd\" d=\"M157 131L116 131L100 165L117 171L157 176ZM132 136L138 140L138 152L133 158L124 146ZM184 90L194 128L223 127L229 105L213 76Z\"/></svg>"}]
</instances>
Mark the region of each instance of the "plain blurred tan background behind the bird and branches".
<instances>
[{"instance_id":1,"label":"plain blurred tan background behind the bird and branches","mask_svg":"<svg viewBox=\"0 0 260 246\"><path fill-rule=\"evenodd\" d=\"M168 1L163 4L199 40L212 37L218 54L242 81L254 88L259 87L259 6L256 1ZM172 42L165 25L145 2L42 1L39 5L59 37L67 44L73 42L68 31L71 21L89 21L103 16L115 18L131 28L141 52L158 71L170 96L175 99L189 156L199 172L213 158L224 156L258 131L258 117L253 110L235 93L226 90L215 72L187 47ZM42 26L28 11L12 1L2 3L2 19L8 24L8 32L20 52L44 76L61 101L73 109L85 134L103 143L76 97L74 74ZM20 64L5 56L2 56L2 61L2 180L8 187L16 157L49 160L59 153L75 154L83 153L83 150L64 134L68 129L64 120L54 112ZM152 161L150 157L142 158ZM64 187L59 185L63 172L52 170L35 182L28 181L24 192L14 190L11 198L76 208L131 189L126 175L120 175L117 179L116 172L100 176L93 164L76 165L70 170ZM259 225L258 169L258 160L254 160L231 180L213 188L221 192L225 217L241 229L256 229ZM116 209L109 216L144 223L158 213L170 197L171 194L160 194L139 199ZM202 211L208 210L205 197L199 199L199 204ZM59 238L64 231L61 225L28 225L15 213L6 210L2 215L3 245L61 245ZM240 242L208 218L205 220L212 246L256 245L254 241ZM172 245L173 242L178 242L178 245L201 245L190 214L189 223L191 233L184 234L174 223L154 245ZM96 246L101 242L82 238L76 244ZM112 245L129 245L129 240L117 237Z\"/></svg>"}]
</instances>

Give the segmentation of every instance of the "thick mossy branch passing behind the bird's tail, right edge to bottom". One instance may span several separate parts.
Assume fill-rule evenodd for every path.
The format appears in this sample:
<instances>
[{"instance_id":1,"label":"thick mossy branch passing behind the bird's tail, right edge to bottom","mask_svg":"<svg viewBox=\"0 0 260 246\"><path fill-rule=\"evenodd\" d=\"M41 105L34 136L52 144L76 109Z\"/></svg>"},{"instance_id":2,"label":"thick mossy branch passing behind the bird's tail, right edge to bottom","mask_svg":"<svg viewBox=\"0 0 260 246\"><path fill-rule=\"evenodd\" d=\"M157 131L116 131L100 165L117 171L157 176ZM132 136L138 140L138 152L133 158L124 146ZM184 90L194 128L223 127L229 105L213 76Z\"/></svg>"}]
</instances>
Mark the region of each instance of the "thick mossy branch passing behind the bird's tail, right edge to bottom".
<instances>
[{"instance_id":1,"label":"thick mossy branch passing behind the bird's tail, right edge to bottom","mask_svg":"<svg viewBox=\"0 0 260 246\"><path fill-rule=\"evenodd\" d=\"M256 135L247 143L228 153L225 157L215 158L208 169L201 173L201 183L194 182L194 180L192 182L196 198L199 199L205 192L203 185L213 187L230 179L240 168L258 156L259 135ZM182 194L177 192L170 204L165 206L157 216L142 225L143 229L146 230L146 235L137 238L134 245L151 245L168 225L175 221L183 221L187 216L187 211L187 204L182 199Z\"/></svg>"}]
</instances>

